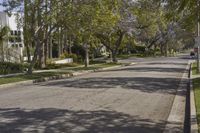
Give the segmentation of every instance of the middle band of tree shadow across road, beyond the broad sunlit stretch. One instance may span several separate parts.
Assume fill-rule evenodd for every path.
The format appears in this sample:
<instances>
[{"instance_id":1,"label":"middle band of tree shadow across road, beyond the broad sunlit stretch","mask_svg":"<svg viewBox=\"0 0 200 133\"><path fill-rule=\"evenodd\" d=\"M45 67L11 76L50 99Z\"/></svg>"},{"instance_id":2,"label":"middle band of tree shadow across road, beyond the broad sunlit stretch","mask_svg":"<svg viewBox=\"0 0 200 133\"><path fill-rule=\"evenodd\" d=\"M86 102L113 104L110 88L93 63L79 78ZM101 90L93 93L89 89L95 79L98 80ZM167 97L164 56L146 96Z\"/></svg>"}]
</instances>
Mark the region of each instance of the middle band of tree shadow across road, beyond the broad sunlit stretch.
<instances>
[{"instance_id":1,"label":"middle band of tree shadow across road, beyond the broad sunlit stretch","mask_svg":"<svg viewBox=\"0 0 200 133\"><path fill-rule=\"evenodd\" d=\"M151 78L151 77L93 77L79 80L61 80L47 82L42 86L66 87L73 89L135 89L147 93L175 94L179 86L178 78ZM185 83L187 84L187 82Z\"/></svg>"}]
</instances>

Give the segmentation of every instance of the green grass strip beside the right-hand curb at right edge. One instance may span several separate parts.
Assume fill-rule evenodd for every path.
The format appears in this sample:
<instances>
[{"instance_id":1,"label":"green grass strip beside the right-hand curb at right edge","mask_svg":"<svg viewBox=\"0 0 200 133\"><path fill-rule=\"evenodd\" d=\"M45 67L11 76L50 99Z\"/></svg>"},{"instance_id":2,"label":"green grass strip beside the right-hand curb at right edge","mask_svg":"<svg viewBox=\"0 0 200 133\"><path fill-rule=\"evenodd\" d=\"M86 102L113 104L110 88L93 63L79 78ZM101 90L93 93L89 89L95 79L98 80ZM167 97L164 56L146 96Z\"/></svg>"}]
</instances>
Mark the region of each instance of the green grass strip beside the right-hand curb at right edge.
<instances>
[{"instance_id":1,"label":"green grass strip beside the right-hand curb at right edge","mask_svg":"<svg viewBox=\"0 0 200 133\"><path fill-rule=\"evenodd\" d=\"M192 66L192 73L193 75L197 75L196 63L194 63ZM200 129L200 78L193 79L193 88L194 88L194 95L195 95L195 104L196 104L196 109L197 109L198 127Z\"/></svg>"}]
</instances>

